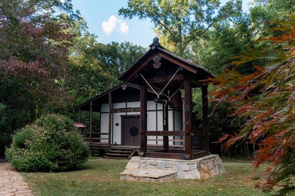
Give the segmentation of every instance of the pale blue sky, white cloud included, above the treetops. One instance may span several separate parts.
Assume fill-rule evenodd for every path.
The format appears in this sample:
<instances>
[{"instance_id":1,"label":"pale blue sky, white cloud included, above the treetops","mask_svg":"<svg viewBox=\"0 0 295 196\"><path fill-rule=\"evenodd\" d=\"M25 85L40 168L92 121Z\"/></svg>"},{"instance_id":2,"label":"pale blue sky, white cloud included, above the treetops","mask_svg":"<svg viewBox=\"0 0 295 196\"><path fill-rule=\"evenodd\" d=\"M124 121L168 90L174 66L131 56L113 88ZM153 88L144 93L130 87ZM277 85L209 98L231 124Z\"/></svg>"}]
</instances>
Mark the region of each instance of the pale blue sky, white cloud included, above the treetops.
<instances>
[{"instance_id":1,"label":"pale blue sky, white cloud included, above the treetops","mask_svg":"<svg viewBox=\"0 0 295 196\"><path fill-rule=\"evenodd\" d=\"M225 3L228 0L221 1ZM248 10L250 1L243 0L243 11ZM129 41L147 47L155 37L150 20L128 20L118 15L121 7L127 7L127 0L72 0L72 4L74 10L80 11L89 32L97 36L98 42Z\"/></svg>"}]
</instances>

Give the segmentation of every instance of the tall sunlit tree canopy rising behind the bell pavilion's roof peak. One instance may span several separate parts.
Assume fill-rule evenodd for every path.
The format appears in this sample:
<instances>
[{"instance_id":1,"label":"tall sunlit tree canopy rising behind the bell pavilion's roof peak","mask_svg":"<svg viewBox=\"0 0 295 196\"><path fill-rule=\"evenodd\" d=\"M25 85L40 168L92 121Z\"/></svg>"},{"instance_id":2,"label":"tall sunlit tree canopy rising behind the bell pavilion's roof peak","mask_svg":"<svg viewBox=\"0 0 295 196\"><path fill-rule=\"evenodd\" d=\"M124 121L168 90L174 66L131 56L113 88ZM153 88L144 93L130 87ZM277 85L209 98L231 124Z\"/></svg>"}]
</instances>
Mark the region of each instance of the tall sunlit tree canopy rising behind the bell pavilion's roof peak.
<instances>
[{"instance_id":1,"label":"tall sunlit tree canopy rising behind the bell pavilion's roof peak","mask_svg":"<svg viewBox=\"0 0 295 196\"><path fill-rule=\"evenodd\" d=\"M213 24L241 14L241 0L128 0L119 15L150 19L162 45L185 57L188 46L197 41ZM162 37L164 37L162 39ZM170 47L172 45L172 47Z\"/></svg>"}]
</instances>

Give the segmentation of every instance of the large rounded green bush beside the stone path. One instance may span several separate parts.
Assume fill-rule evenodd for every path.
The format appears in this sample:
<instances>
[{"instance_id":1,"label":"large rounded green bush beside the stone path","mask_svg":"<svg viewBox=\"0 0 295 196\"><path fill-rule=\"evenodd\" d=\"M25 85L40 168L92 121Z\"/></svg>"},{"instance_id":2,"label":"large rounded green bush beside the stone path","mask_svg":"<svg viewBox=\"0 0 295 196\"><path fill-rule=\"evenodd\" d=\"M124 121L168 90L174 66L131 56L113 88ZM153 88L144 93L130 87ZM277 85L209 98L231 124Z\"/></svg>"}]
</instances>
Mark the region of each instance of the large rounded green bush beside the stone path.
<instances>
[{"instance_id":1,"label":"large rounded green bush beside the stone path","mask_svg":"<svg viewBox=\"0 0 295 196\"><path fill-rule=\"evenodd\" d=\"M59 172L83 165L89 146L74 122L61 115L46 115L13 135L6 154L11 165L24 172Z\"/></svg>"}]
</instances>

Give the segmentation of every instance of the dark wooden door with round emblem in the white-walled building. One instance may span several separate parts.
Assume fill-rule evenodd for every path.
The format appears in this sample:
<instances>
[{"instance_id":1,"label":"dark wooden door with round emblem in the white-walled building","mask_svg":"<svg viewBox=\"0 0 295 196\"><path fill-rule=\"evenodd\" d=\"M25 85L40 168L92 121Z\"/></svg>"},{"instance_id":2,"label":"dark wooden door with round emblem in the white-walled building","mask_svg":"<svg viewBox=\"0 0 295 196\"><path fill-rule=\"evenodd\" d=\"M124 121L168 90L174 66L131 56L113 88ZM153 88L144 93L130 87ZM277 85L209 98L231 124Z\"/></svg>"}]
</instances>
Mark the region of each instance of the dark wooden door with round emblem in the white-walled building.
<instances>
[{"instance_id":1,"label":"dark wooden door with round emblem in the white-walled building","mask_svg":"<svg viewBox=\"0 0 295 196\"><path fill-rule=\"evenodd\" d=\"M122 117L122 145L140 145L140 118Z\"/></svg>"}]
</instances>

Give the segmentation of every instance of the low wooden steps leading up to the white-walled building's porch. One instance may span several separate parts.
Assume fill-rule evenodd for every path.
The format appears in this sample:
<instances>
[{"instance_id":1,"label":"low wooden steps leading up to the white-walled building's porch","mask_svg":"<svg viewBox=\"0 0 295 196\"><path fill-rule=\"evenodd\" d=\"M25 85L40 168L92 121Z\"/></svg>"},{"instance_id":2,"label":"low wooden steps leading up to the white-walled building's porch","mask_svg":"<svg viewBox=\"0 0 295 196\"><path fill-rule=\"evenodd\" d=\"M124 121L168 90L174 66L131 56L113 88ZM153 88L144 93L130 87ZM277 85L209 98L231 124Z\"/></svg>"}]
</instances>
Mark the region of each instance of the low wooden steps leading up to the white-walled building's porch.
<instances>
[{"instance_id":1,"label":"low wooden steps leading up to the white-walled building's porch","mask_svg":"<svg viewBox=\"0 0 295 196\"><path fill-rule=\"evenodd\" d=\"M107 159L130 159L137 154L136 148L111 147L103 158Z\"/></svg>"}]
</instances>

